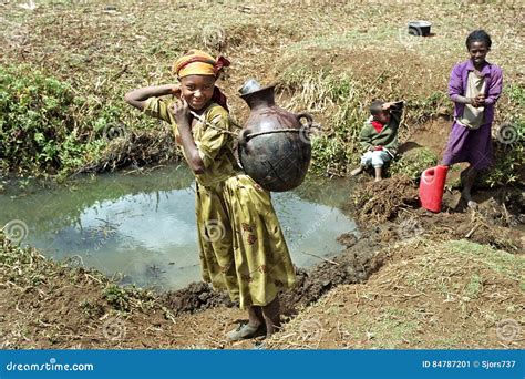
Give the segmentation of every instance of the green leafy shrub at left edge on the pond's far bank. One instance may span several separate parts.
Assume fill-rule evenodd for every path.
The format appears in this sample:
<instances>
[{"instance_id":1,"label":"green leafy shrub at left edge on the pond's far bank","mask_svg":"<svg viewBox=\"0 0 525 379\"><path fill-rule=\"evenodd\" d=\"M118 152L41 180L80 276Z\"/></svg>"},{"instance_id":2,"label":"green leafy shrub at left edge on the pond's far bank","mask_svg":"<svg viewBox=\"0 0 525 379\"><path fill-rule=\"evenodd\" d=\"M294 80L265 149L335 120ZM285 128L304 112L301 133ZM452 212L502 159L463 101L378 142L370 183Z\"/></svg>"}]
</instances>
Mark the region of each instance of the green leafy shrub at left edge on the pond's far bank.
<instances>
[{"instance_id":1,"label":"green leafy shrub at left edge on the pond's far bank","mask_svg":"<svg viewBox=\"0 0 525 379\"><path fill-rule=\"evenodd\" d=\"M85 103L68 82L28 65L1 66L0 170L63 174L81 166L104 145L79 121Z\"/></svg>"}]
</instances>

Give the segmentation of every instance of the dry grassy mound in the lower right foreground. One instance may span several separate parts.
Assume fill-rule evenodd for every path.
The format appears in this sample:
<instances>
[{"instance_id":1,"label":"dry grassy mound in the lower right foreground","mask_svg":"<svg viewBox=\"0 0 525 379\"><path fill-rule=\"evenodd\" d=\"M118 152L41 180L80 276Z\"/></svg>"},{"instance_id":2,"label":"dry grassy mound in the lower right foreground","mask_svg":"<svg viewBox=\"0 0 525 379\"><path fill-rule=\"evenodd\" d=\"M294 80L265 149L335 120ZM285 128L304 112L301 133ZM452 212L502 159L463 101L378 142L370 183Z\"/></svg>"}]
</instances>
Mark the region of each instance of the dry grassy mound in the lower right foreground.
<instances>
[{"instance_id":1,"label":"dry grassy mound in the lower right foreground","mask_svg":"<svg viewBox=\"0 0 525 379\"><path fill-rule=\"evenodd\" d=\"M411 239L366 283L340 286L268 341L275 349L523 348L523 256Z\"/></svg>"}]
</instances>

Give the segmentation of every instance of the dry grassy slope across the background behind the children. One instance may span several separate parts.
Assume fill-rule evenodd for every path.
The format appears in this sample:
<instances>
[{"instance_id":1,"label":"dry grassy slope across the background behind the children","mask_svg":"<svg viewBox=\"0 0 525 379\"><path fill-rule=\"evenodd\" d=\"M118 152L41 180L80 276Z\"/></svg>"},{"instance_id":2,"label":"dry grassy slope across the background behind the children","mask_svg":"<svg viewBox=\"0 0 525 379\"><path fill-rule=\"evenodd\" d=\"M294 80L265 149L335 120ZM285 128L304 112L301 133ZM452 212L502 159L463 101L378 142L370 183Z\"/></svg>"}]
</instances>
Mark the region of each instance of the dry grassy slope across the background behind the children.
<instances>
[{"instance_id":1,"label":"dry grassy slope across the background behind the children","mask_svg":"<svg viewBox=\"0 0 525 379\"><path fill-rule=\"evenodd\" d=\"M490 60L503 66L505 82L523 85L524 35L516 20L524 12L522 3L512 1L497 6L470 1L163 1L145 6L120 1L114 7L102 1L42 1L33 11L9 2L1 8L8 49L0 61L29 62L71 81L89 99L75 115L79 122L101 117L105 110L117 119L113 121L142 129L158 127L158 123L137 117L123 104L127 90L174 81L172 62L188 48L220 52L234 62L220 83L234 117L247 114L237 96L247 78L279 82L280 103L313 113L333 139L333 148L342 150L316 155L319 166L343 173L371 99L408 101L402 136L437 109L451 109L444 96L449 73L466 58L464 40L475 28L493 35ZM472 13L484 17L467 17ZM408 35L409 19L432 21L435 35ZM500 107L516 109L506 96ZM513 114L500 112L497 122L512 119ZM328 148L326 143L317 146ZM340 164L330 167L330 160Z\"/></svg>"}]
</instances>

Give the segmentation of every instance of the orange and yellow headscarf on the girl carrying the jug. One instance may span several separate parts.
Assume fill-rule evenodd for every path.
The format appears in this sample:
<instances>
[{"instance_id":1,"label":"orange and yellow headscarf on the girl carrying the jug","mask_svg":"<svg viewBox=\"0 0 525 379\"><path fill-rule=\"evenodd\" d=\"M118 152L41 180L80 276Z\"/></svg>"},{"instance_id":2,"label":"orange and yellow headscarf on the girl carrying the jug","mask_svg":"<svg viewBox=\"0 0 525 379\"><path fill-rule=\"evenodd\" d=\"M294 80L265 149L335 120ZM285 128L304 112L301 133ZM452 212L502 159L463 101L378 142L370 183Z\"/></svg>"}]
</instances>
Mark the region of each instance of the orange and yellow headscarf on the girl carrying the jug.
<instances>
[{"instance_id":1,"label":"orange and yellow headscarf on the girl carrying the jug","mask_svg":"<svg viewBox=\"0 0 525 379\"><path fill-rule=\"evenodd\" d=\"M219 57L215 60L204 51L189 50L173 64L173 72L178 79L188 75L209 75L217 78L220 70L228 65L229 61L224 57Z\"/></svg>"}]
</instances>

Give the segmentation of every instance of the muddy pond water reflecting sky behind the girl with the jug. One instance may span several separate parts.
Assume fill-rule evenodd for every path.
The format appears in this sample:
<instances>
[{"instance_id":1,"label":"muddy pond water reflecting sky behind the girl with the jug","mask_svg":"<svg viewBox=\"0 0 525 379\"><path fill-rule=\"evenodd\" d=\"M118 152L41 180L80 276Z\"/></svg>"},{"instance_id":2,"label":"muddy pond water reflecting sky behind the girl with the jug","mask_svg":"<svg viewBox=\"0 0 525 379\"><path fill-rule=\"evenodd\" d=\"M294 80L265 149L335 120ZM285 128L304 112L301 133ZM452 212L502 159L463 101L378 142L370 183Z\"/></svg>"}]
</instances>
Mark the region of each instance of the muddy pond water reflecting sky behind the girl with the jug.
<instances>
[{"instance_id":1,"label":"muddy pond water reflecting sky behind the girl with the jug","mask_svg":"<svg viewBox=\"0 0 525 379\"><path fill-rule=\"evenodd\" d=\"M70 265L116 275L122 284L177 289L200 280L194 188L184 165L68 185L17 181L0 195L0 225L22 225L21 245ZM307 178L295 191L272 193L297 266L339 254L337 236L359 233L342 211L351 190L349 181Z\"/></svg>"}]
</instances>

